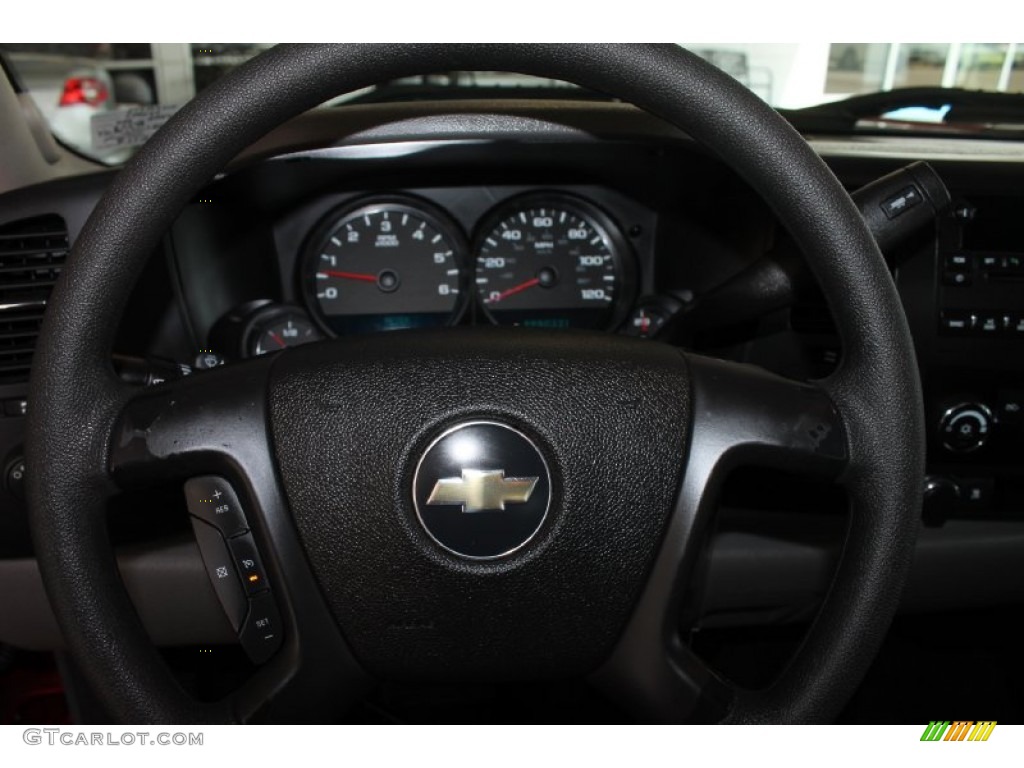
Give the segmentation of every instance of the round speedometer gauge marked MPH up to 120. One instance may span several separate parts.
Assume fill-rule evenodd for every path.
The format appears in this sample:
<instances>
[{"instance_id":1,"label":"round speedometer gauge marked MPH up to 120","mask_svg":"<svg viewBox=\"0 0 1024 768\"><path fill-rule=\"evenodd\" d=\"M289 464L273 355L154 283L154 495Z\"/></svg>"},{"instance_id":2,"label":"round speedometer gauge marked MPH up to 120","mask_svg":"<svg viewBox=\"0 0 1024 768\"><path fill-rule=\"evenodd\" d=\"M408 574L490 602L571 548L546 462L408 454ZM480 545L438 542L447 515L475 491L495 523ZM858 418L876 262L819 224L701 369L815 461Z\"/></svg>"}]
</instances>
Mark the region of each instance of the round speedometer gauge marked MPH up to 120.
<instances>
[{"instance_id":1,"label":"round speedometer gauge marked MPH up to 120","mask_svg":"<svg viewBox=\"0 0 1024 768\"><path fill-rule=\"evenodd\" d=\"M585 201L512 201L490 217L475 253L477 300L497 324L610 329L623 318L628 247Z\"/></svg>"}]
</instances>

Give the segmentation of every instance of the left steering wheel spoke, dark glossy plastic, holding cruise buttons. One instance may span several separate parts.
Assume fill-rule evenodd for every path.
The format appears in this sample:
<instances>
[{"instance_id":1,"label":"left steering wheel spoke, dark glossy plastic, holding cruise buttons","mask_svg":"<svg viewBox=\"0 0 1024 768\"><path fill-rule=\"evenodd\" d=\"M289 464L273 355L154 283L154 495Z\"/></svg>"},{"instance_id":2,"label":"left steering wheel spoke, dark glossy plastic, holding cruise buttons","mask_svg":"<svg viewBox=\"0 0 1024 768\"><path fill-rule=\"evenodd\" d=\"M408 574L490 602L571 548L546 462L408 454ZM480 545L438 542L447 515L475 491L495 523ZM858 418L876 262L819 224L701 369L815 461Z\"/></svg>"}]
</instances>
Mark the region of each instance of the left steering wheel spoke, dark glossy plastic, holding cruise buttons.
<instances>
[{"instance_id":1,"label":"left steering wheel spoke, dark glossy plastic, holding cruise buttons","mask_svg":"<svg viewBox=\"0 0 1024 768\"><path fill-rule=\"evenodd\" d=\"M136 393L114 429L110 473L125 487L183 485L214 590L258 665L222 712L314 722L359 697L366 677L319 599L276 479L269 367L260 358Z\"/></svg>"}]
</instances>

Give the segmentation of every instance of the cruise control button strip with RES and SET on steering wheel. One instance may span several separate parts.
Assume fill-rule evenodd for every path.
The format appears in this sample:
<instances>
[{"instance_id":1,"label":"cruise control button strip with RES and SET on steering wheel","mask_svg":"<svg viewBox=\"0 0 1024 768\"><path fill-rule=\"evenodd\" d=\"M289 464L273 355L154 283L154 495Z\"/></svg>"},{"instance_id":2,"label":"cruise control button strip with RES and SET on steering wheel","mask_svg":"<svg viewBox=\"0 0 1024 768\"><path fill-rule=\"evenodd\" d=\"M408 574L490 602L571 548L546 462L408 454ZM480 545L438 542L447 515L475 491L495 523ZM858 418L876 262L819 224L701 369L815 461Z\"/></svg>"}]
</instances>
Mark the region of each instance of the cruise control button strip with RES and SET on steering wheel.
<instances>
[{"instance_id":1,"label":"cruise control button strip with RES and SET on steering wheel","mask_svg":"<svg viewBox=\"0 0 1024 768\"><path fill-rule=\"evenodd\" d=\"M283 627L245 509L223 477L194 477L184 492L217 599L250 660L263 664L281 647Z\"/></svg>"}]
</instances>

